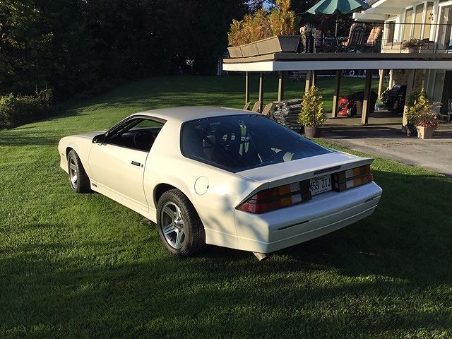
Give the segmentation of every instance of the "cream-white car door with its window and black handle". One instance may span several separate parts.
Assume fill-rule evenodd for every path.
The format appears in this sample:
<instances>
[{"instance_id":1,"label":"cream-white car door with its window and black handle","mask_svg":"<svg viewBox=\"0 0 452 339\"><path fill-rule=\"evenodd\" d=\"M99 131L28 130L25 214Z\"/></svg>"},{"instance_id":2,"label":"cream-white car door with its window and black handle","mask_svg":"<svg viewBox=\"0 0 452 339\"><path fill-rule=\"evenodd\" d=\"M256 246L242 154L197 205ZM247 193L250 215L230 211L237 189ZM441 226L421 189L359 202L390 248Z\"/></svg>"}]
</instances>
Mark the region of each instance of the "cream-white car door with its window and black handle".
<instances>
[{"instance_id":1,"label":"cream-white car door with its window and black handle","mask_svg":"<svg viewBox=\"0 0 452 339\"><path fill-rule=\"evenodd\" d=\"M93 144L88 163L97 190L130 207L148 211L143 174L149 150L162 121L136 117L107 132Z\"/></svg>"}]
</instances>

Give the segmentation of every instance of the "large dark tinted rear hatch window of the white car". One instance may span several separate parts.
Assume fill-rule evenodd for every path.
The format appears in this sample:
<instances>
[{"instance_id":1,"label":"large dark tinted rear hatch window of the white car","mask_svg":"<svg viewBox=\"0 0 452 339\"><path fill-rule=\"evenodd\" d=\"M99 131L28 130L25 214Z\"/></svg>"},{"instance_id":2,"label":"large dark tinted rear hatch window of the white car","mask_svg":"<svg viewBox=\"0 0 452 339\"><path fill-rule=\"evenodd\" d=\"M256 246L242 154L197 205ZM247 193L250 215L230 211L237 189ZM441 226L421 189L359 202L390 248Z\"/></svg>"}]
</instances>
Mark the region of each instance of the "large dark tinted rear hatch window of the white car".
<instances>
[{"instance_id":1,"label":"large dark tinted rear hatch window of the white car","mask_svg":"<svg viewBox=\"0 0 452 339\"><path fill-rule=\"evenodd\" d=\"M210 117L182 126L182 155L230 172L331 153L256 114Z\"/></svg>"}]
</instances>

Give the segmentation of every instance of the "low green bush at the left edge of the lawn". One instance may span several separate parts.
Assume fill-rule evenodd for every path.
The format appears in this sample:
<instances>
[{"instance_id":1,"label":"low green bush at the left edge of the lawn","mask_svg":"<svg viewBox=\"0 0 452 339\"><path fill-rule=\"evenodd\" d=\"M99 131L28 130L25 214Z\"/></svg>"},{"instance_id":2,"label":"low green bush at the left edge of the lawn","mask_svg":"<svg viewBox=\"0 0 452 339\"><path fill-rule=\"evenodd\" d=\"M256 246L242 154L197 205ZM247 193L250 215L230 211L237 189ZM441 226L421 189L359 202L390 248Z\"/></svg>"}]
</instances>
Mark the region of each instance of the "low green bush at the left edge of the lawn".
<instances>
[{"instance_id":1,"label":"low green bush at the left edge of the lawn","mask_svg":"<svg viewBox=\"0 0 452 339\"><path fill-rule=\"evenodd\" d=\"M52 91L36 91L36 95L0 96L0 129L27 124L47 117L52 102Z\"/></svg>"}]
</instances>

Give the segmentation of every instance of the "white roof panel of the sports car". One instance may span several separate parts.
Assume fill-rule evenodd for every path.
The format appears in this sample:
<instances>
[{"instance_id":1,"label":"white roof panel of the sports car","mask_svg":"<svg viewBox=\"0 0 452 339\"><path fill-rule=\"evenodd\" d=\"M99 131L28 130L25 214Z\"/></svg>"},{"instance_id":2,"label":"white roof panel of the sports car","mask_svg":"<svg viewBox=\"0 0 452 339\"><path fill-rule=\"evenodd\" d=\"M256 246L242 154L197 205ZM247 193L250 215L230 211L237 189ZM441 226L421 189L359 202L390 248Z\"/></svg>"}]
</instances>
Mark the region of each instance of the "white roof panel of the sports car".
<instances>
[{"instance_id":1,"label":"white roof panel of the sports car","mask_svg":"<svg viewBox=\"0 0 452 339\"><path fill-rule=\"evenodd\" d=\"M132 114L131 117L135 115L147 115L149 117L155 117L167 121L179 121L179 123L182 124L185 121L203 119L207 117L222 117L227 115L239 115L239 114L258 114L258 113L244 111L243 109L234 109L225 107L194 106L194 107L150 109L148 111Z\"/></svg>"}]
</instances>

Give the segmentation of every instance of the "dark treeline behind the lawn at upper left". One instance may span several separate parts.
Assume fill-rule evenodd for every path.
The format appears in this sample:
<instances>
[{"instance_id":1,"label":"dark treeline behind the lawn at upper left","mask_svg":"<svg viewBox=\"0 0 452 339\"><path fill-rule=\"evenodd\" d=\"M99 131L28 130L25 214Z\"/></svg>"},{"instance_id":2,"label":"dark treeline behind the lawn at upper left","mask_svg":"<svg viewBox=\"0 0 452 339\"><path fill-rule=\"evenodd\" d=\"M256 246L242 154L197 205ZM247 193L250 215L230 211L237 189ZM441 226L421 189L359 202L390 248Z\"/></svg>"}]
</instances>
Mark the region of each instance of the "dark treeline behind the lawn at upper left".
<instances>
[{"instance_id":1,"label":"dark treeline behind the lawn at upper left","mask_svg":"<svg viewBox=\"0 0 452 339\"><path fill-rule=\"evenodd\" d=\"M215 73L243 0L0 0L0 95Z\"/></svg>"}]
</instances>

